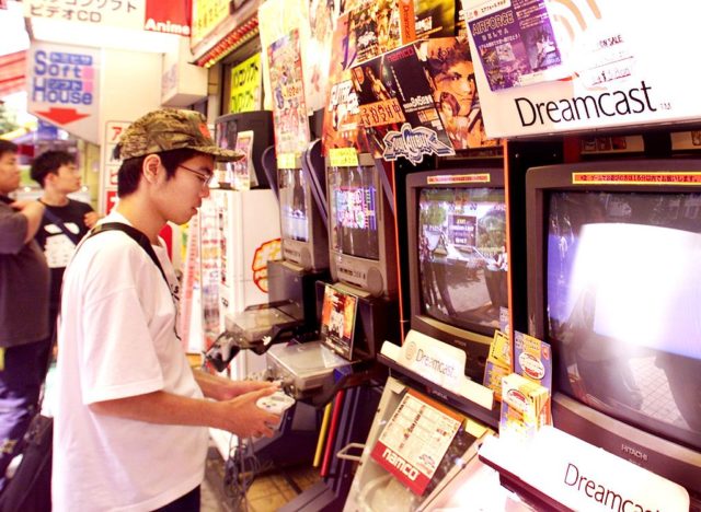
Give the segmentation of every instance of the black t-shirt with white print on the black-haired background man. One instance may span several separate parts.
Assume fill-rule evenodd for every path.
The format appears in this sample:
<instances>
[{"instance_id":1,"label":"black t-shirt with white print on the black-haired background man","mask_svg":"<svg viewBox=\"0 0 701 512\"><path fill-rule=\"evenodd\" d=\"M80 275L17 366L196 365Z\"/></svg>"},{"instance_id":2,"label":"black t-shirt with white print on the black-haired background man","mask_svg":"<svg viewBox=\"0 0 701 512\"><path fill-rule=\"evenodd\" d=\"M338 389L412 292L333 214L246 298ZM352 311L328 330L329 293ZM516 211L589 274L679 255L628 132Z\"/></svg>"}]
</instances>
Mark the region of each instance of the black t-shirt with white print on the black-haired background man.
<instances>
[{"instance_id":1,"label":"black t-shirt with white print on the black-haired background man","mask_svg":"<svg viewBox=\"0 0 701 512\"><path fill-rule=\"evenodd\" d=\"M68 205L62 207L46 206L47 210L56 214L64 225L73 233L77 240L81 240L88 233L88 226L83 220L85 213L93 211L92 207L85 202L74 201L69 199ZM49 305L56 310L61 292L61 282L64 281L64 271L68 266L73 252L76 251L76 244L64 233L64 231L54 222L51 222L46 216L42 219L42 225L34 235L34 240L39 244L46 263L51 269L51 292Z\"/></svg>"}]
</instances>

